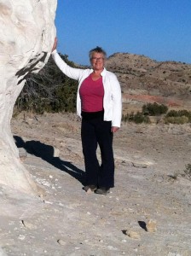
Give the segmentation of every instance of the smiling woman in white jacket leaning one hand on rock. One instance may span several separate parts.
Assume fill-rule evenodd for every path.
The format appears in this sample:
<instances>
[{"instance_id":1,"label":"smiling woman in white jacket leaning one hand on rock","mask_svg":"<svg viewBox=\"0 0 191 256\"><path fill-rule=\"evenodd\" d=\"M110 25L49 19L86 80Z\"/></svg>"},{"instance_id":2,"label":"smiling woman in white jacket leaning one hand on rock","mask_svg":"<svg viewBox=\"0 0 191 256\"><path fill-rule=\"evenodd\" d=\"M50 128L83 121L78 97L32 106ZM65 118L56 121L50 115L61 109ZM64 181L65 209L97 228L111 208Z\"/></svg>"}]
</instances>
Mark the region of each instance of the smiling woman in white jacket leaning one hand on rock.
<instances>
[{"instance_id":1,"label":"smiling woman in white jacket leaning one hand on rock","mask_svg":"<svg viewBox=\"0 0 191 256\"><path fill-rule=\"evenodd\" d=\"M84 190L107 195L114 187L113 133L121 122L121 89L116 76L104 67L106 52L100 47L90 50L92 68L69 67L52 49L56 65L71 79L78 80L77 113L82 118L81 139L85 165ZM101 149L101 166L96 148Z\"/></svg>"}]
</instances>

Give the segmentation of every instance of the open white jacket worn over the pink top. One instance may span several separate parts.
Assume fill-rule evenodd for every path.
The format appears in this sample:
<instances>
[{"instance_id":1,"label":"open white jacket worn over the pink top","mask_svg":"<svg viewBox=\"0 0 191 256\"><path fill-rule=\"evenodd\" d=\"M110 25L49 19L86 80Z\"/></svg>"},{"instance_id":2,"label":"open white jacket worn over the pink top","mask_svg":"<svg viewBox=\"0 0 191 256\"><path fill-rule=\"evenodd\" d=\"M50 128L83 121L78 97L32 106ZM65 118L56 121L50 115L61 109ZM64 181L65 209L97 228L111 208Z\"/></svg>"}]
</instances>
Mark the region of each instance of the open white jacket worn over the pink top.
<instances>
[{"instance_id":1,"label":"open white jacket worn over the pink top","mask_svg":"<svg viewBox=\"0 0 191 256\"><path fill-rule=\"evenodd\" d=\"M55 64L61 69L61 71L71 79L78 80L78 93L77 93L77 113L81 117L81 99L79 96L79 88L93 69L79 69L73 68L67 65L65 61L61 59L61 56L55 49L52 52ZM107 71L105 68L101 72L104 96L103 96L103 108L105 121L112 121L112 126L120 127L121 115L122 115L122 100L121 100L121 88L119 81L114 73Z\"/></svg>"}]
</instances>

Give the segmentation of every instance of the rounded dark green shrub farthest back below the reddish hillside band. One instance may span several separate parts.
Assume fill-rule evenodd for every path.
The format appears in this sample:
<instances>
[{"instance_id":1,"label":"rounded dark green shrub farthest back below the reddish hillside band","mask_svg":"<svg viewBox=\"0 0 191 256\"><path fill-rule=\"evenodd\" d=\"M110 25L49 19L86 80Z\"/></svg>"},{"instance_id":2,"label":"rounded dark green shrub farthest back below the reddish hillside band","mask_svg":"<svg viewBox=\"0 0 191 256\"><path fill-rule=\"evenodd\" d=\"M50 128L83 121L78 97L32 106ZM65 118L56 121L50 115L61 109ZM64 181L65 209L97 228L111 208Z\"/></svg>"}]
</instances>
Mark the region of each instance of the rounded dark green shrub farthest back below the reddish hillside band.
<instances>
[{"instance_id":1,"label":"rounded dark green shrub farthest back below the reddish hillside band","mask_svg":"<svg viewBox=\"0 0 191 256\"><path fill-rule=\"evenodd\" d=\"M164 104L158 104L156 102L154 103L148 103L142 106L142 113L145 115L160 115L163 113L167 113L168 107Z\"/></svg>"}]
</instances>

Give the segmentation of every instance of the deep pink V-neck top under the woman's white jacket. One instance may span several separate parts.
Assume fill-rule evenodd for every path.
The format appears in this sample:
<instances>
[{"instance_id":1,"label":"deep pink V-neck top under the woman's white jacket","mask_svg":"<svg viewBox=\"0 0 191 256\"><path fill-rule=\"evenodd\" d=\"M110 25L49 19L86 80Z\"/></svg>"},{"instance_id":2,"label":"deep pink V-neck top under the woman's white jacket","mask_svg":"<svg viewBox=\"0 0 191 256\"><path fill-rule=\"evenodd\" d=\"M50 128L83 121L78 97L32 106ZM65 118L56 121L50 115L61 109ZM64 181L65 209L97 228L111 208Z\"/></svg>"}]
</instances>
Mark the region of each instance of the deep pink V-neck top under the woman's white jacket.
<instances>
[{"instance_id":1,"label":"deep pink V-neck top under the woman's white jacket","mask_svg":"<svg viewBox=\"0 0 191 256\"><path fill-rule=\"evenodd\" d=\"M94 81L90 74L81 84L79 95L82 102L82 111L98 112L103 110L104 89L102 77Z\"/></svg>"}]
</instances>

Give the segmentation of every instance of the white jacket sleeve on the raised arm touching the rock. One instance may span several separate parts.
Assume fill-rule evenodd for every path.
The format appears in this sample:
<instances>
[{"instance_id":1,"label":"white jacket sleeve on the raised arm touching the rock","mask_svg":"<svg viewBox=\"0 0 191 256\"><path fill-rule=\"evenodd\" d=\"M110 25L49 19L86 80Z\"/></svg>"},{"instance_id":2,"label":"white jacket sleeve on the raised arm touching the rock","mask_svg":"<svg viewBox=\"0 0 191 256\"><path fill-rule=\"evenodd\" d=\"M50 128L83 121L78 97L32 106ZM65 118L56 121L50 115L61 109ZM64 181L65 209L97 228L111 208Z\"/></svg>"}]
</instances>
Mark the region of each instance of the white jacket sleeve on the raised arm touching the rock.
<instances>
[{"instance_id":1,"label":"white jacket sleeve on the raised arm touching the rock","mask_svg":"<svg viewBox=\"0 0 191 256\"><path fill-rule=\"evenodd\" d=\"M56 49L52 52L52 57L55 64L61 69L61 72L71 79L78 80L80 75L84 72L83 69L68 66L67 63L61 59Z\"/></svg>"}]
</instances>

